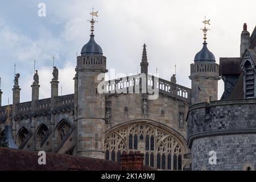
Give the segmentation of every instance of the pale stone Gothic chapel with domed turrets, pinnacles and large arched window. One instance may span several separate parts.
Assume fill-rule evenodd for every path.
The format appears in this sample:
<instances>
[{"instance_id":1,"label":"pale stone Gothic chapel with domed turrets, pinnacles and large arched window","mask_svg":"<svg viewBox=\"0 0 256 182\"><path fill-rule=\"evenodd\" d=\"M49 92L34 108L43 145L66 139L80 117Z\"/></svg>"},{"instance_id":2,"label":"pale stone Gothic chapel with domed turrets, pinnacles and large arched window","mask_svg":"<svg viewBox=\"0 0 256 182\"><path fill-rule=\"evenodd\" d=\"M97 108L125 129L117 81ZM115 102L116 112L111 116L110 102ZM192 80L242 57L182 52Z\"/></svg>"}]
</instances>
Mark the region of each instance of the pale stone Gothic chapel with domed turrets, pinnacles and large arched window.
<instances>
[{"instance_id":1,"label":"pale stone Gothic chapel with domed turrets, pinnacles and large arched window","mask_svg":"<svg viewBox=\"0 0 256 182\"><path fill-rule=\"evenodd\" d=\"M219 66L207 43L203 43L191 64L192 89L176 84L175 75L171 81L149 75L145 44L141 73L105 81L99 88L105 79L104 73L108 72L108 60L94 40L93 19L91 23L89 42L76 60L75 93L58 95L59 73L54 67L51 98L39 100L36 72L31 101L20 103L20 75L16 74L13 104L0 107L0 127L11 125L14 142L23 150L113 161L119 161L123 151L139 150L144 154L146 166L164 170L191 168L195 149L189 143L192 131L188 130L186 121L188 118L191 126L189 107L216 101L217 81L220 80ZM146 88L142 86L144 75ZM104 93L99 92L101 88ZM155 92L158 98L150 99ZM0 90L0 100L1 96ZM6 122L8 119L11 123Z\"/></svg>"}]
</instances>

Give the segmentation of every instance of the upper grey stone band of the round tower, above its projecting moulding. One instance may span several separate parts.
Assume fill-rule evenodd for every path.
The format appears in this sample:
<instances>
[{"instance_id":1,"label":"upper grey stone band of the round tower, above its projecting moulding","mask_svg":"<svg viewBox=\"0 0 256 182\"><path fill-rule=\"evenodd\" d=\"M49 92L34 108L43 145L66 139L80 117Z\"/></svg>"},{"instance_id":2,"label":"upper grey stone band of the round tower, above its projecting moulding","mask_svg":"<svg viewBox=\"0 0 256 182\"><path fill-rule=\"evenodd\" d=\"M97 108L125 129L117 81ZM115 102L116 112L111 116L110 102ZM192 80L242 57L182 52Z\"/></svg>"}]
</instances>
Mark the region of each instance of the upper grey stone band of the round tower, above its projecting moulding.
<instances>
[{"instance_id":1,"label":"upper grey stone band of the round tower, above its projecting moulding","mask_svg":"<svg viewBox=\"0 0 256 182\"><path fill-rule=\"evenodd\" d=\"M221 100L189 107L188 147L193 140L230 134L256 133L256 99Z\"/></svg>"}]
</instances>

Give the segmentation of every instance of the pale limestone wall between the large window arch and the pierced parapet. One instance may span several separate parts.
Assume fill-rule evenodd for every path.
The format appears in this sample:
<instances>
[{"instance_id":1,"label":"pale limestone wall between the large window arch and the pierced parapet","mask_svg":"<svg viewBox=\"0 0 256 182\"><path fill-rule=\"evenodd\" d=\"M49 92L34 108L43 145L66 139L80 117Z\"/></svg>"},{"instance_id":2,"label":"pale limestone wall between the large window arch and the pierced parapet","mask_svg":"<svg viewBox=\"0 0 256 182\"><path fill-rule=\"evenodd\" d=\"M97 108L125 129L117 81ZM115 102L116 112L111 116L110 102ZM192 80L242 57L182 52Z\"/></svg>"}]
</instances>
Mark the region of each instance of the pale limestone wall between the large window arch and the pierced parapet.
<instances>
[{"instance_id":1,"label":"pale limestone wall between the large window arch and the pierced parapet","mask_svg":"<svg viewBox=\"0 0 256 182\"><path fill-rule=\"evenodd\" d=\"M109 125L106 125L106 130L133 119L148 118L172 127L179 131L183 137L187 137L185 115L189 105L184 101L174 100L159 94L157 100L148 100L148 114L146 116L142 113L142 94L112 95L106 102L111 103L111 122ZM127 107L127 110L125 107ZM179 111L184 112L183 127L179 126Z\"/></svg>"}]
</instances>

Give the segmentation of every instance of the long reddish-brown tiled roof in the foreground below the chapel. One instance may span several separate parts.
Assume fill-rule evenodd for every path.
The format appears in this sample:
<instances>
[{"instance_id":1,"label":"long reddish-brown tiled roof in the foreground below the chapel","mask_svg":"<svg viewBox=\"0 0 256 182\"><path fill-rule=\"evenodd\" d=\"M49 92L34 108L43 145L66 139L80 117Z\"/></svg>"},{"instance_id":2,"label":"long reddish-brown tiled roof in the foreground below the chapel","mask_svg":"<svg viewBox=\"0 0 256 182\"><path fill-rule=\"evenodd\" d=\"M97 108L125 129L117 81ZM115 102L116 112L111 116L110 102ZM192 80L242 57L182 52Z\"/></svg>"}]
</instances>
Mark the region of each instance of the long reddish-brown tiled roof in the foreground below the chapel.
<instances>
[{"instance_id":1,"label":"long reddish-brown tiled roof in the foreground below the chapel","mask_svg":"<svg viewBox=\"0 0 256 182\"><path fill-rule=\"evenodd\" d=\"M119 171L121 164L104 159L84 158L65 154L46 153L46 165L38 164L38 152L0 147L0 171ZM143 166L143 170L155 170Z\"/></svg>"}]
</instances>

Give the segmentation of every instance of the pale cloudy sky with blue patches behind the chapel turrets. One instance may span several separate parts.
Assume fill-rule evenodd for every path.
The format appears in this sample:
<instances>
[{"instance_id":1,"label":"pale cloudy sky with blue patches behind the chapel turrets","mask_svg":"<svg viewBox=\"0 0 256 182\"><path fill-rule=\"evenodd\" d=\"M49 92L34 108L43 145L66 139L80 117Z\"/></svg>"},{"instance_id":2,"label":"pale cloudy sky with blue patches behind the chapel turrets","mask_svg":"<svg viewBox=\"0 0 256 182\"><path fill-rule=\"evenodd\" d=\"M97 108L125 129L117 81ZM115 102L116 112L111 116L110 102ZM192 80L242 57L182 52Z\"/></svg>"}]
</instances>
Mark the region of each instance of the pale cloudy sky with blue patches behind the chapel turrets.
<instances>
[{"instance_id":1,"label":"pale cloudy sky with blue patches behind the chapel turrets","mask_svg":"<svg viewBox=\"0 0 256 182\"><path fill-rule=\"evenodd\" d=\"M46 17L38 4L46 3ZM88 42L90 11L99 11L95 39L107 57L107 68L116 73L137 73L142 45L147 45L149 73L170 80L177 65L177 84L191 88L190 64L203 46L204 16L210 19L208 48L217 63L220 57L240 55L243 23L255 27L256 1L173 0L1 0L0 77L2 105L7 104L16 73L20 73L20 101L31 100L34 60L39 73L40 98L50 97L52 55L59 68L62 94L73 93L76 52ZM223 92L220 80L219 97ZM59 87L60 94L60 87Z\"/></svg>"}]
</instances>

